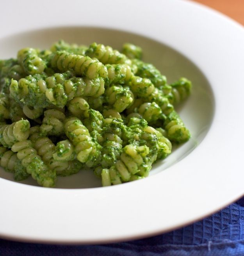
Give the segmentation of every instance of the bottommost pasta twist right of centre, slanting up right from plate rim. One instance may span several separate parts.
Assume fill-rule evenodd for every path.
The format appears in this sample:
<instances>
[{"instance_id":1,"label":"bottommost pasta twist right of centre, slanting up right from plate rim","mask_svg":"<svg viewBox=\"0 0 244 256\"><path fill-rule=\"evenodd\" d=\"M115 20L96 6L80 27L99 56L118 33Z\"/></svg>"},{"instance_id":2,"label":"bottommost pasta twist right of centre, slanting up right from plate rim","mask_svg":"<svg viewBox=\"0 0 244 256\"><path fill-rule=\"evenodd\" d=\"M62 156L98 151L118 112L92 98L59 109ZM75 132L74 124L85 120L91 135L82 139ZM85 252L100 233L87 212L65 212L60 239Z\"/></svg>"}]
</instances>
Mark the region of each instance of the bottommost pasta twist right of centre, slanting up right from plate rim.
<instances>
[{"instance_id":1,"label":"bottommost pasta twist right of centre, slanting up right from plate rim","mask_svg":"<svg viewBox=\"0 0 244 256\"><path fill-rule=\"evenodd\" d=\"M122 182L130 181L131 177L139 172L149 172L151 165L146 160L148 154L149 148L146 145L126 145L123 148L120 160L109 169L102 169L102 185L121 184Z\"/></svg>"}]
</instances>

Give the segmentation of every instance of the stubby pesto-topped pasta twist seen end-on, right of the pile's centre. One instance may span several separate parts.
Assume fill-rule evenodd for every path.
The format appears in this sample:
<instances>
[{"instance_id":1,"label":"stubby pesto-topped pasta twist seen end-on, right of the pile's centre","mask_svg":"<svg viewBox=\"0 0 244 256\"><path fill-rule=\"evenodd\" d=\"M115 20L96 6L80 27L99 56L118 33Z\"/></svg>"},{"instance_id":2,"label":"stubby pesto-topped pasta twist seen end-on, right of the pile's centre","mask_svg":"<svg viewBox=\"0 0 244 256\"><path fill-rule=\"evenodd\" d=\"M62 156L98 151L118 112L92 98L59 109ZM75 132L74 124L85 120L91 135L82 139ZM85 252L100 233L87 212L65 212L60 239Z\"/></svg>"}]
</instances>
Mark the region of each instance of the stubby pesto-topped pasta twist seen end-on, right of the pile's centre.
<instances>
[{"instance_id":1,"label":"stubby pesto-topped pasta twist seen end-on, right of the pile's centre","mask_svg":"<svg viewBox=\"0 0 244 256\"><path fill-rule=\"evenodd\" d=\"M113 85L105 91L106 101L116 111L123 112L134 101L134 95L128 87Z\"/></svg>"}]
</instances>

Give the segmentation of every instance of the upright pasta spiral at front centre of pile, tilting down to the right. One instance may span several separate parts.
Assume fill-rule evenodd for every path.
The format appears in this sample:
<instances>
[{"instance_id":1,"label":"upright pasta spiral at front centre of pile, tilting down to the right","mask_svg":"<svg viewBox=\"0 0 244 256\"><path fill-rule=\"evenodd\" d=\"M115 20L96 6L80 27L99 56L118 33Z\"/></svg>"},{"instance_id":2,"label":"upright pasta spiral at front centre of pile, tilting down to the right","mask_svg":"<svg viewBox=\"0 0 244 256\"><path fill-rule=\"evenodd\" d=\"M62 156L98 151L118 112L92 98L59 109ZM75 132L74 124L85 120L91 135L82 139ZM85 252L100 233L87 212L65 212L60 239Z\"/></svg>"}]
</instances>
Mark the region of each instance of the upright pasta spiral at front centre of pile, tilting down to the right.
<instances>
[{"instance_id":1,"label":"upright pasta spiral at front centre of pile, tilting down to the right","mask_svg":"<svg viewBox=\"0 0 244 256\"><path fill-rule=\"evenodd\" d=\"M66 136L75 146L77 159L88 167L97 165L101 157L101 146L89 134L88 129L76 117L64 120Z\"/></svg>"}]
</instances>

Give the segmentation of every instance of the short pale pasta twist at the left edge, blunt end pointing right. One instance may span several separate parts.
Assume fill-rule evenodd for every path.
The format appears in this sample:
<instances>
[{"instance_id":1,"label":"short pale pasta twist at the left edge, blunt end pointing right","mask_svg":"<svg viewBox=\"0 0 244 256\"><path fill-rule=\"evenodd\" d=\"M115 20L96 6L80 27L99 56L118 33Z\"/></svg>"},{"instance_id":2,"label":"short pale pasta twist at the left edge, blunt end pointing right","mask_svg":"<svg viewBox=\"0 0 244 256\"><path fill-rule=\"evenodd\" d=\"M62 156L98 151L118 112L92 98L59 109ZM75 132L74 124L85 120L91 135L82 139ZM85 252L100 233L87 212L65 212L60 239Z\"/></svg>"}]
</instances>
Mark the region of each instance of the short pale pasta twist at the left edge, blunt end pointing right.
<instances>
[{"instance_id":1,"label":"short pale pasta twist at the left edge, blunt end pointing right","mask_svg":"<svg viewBox=\"0 0 244 256\"><path fill-rule=\"evenodd\" d=\"M0 143L6 148L11 148L17 141L27 140L29 131L30 123L28 120L0 125Z\"/></svg>"}]
</instances>

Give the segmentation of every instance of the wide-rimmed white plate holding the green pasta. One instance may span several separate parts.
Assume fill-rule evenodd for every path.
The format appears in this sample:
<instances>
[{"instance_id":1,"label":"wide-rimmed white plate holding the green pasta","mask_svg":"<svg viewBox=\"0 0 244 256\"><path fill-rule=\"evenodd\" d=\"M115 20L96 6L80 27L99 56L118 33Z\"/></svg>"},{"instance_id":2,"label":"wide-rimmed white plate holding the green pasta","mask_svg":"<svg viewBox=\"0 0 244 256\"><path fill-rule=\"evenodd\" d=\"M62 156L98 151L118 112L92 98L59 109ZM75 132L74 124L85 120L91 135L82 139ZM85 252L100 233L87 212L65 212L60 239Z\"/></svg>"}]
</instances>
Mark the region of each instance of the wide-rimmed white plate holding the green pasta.
<instances>
[{"instance_id":1,"label":"wide-rimmed white plate holding the green pasta","mask_svg":"<svg viewBox=\"0 0 244 256\"><path fill-rule=\"evenodd\" d=\"M50 243L141 238L191 223L244 194L240 25L182 0L24 0L5 1L1 9L0 59L60 38L115 48L130 41L144 48L144 59L169 82L186 76L194 86L178 109L191 140L144 180L87 188L98 180L80 172L51 189L13 182L1 171L1 237Z\"/></svg>"}]
</instances>

